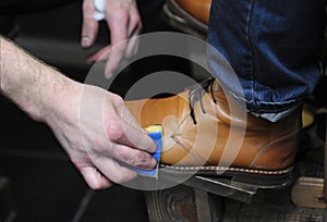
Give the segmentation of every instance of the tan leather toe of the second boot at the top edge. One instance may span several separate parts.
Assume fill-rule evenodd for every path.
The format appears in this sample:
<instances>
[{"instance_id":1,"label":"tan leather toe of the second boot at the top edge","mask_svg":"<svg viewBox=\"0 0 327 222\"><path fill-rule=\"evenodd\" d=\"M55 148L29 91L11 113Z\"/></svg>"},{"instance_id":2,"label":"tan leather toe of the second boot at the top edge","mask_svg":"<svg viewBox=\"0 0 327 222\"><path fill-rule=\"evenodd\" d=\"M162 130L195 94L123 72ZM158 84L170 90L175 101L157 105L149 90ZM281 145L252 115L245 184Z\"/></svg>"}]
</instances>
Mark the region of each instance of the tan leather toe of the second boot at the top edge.
<instances>
[{"instance_id":1,"label":"tan leather toe of the second boot at the top edge","mask_svg":"<svg viewBox=\"0 0 327 222\"><path fill-rule=\"evenodd\" d=\"M175 0L185 12L204 24L208 24L211 0Z\"/></svg>"}]
</instances>

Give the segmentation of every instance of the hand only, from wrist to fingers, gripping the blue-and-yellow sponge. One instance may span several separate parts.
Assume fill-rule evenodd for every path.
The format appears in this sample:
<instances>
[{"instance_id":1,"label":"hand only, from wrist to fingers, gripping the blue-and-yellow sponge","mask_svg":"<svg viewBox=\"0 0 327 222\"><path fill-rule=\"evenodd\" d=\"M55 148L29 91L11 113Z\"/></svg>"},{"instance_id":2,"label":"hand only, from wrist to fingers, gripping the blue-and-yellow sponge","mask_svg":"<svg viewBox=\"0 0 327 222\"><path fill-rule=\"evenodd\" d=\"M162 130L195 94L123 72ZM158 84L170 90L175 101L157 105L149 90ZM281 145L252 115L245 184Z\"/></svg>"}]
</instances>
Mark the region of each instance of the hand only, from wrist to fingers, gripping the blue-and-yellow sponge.
<instances>
[{"instance_id":1,"label":"hand only, from wrist to fingers, gripping the blue-and-yellow sponge","mask_svg":"<svg viewBox=\"0 0 327 222\"><path fill-rule=\"evenodd\" d=\"M70 99L61 109L50 111L46 122L87 184L95 189L106 188L136 176L118 161L153 169L156 161L148 152L154 152L156 146L123 100L94 86L83 85L81 91L81 86L69 87Z\"/></svg>"}]
</instances>

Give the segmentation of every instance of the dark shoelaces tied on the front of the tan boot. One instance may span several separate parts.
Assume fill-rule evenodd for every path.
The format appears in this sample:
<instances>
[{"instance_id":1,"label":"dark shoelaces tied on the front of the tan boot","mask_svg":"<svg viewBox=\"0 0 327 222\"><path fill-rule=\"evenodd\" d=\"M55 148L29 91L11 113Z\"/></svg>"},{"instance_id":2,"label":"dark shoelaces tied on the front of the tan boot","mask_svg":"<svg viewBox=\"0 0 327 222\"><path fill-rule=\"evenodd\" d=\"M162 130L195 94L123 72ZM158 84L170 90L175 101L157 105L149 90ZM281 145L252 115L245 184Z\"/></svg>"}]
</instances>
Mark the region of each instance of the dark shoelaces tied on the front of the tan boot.
<instances>
[{"instance_id":1,"label":"dark shoelaces tied on the front of the tan boot","mask_svg":"<svg viewBox=\"0 0 327 222\"><path fill-rule=\"evenodd\" d=\"M189 106L190 106L190 115L193 120L193 123L196 125L197 122L196 122L196 119L195 119L195 113L194 113L194 106L197 101L199 101L199 107L201 107L201 110L203 113L206 113L206 110L204 108L204 104L203 104L203 96L205 94L208 94L210 92L211 95L211 99L213 101L216 103L216 98L215 98L215 95L214 95L214 87L213 87L213 84L215 82L215 78L214 77L209 77L194 86L191 86L189 89Z\"/></svg>"}]
</instances>

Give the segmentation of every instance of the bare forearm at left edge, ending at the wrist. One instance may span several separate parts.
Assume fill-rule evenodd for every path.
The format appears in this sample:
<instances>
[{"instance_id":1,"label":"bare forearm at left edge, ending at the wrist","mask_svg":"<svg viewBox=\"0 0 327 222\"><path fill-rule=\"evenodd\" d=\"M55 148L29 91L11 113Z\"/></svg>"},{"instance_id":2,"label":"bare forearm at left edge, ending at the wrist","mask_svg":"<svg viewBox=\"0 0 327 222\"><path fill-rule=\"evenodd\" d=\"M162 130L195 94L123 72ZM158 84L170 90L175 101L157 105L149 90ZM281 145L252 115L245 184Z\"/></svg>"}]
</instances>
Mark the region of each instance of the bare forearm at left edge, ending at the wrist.
<instances>
[{"instance_id":1,"label":"bare forearm at left edge, ending at the wrist","mask_svg":"<svg viewBox=\"0 0 327 222\"><path fill-rule=\"evenodd\" d=\"M37 121L49 121L47 115L53 110L66 112L63 106L69 101L62 100L70 99L64 97L68 90L74 91L75 82L3 38L0 47L1 94Z\"/></svg>"}]
</instances>

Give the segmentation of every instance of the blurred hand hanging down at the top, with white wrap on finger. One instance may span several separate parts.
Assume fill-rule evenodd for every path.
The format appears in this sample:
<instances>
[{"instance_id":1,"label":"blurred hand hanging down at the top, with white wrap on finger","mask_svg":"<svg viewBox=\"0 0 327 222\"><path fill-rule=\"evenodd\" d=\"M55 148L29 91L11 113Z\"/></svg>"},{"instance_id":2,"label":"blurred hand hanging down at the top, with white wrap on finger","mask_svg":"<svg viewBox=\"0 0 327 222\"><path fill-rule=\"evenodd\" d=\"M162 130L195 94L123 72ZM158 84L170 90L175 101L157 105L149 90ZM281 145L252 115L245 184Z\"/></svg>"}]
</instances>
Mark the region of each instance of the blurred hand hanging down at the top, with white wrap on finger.
<instances>
[{"instance_id":1,"label":"blurred hand hanging down at the top, with white wrap on finger","mask_svg":"<svg viewBox=\"0 0 327 222\"><path fill-rule=\"evenodd\" d=\"M98 34L99 24L94 18L95 12L94 0L84 0L81 40L84 48L93 46ZM142 23L135 0L106 0L105 20L110 29L110 45L88 58L88 61L107 59L105 74L110 77L123 55L131 57L136 52L137 41L125 40L140 34Z\"/></svg>"}]
</instances>

